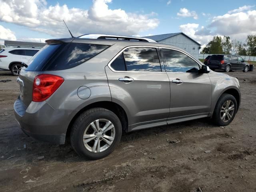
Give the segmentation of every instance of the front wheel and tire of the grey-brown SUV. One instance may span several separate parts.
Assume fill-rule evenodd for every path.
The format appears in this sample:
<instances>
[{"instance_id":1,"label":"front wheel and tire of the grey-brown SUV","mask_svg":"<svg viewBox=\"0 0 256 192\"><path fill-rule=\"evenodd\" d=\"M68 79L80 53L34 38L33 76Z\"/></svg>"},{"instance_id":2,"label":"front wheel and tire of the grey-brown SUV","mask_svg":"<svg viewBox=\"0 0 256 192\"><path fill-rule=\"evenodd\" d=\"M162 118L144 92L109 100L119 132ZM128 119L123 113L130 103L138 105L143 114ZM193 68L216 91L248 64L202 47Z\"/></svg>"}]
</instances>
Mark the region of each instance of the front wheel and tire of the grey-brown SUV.
<instances>
[{"instance_id":1,"label":"front wheel and tire of the grey-brown SUV","mask_svg":"<svg viewBox=\"0 0 256 192\"><path fill-rule=\"evenodd\" d=\"M236 115L236 98L230 94L222 94L215 106L212 120L218 126L226 126Z\"/></svg>"}]
</instances>

